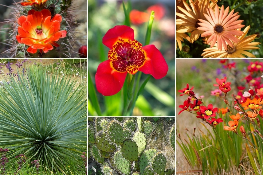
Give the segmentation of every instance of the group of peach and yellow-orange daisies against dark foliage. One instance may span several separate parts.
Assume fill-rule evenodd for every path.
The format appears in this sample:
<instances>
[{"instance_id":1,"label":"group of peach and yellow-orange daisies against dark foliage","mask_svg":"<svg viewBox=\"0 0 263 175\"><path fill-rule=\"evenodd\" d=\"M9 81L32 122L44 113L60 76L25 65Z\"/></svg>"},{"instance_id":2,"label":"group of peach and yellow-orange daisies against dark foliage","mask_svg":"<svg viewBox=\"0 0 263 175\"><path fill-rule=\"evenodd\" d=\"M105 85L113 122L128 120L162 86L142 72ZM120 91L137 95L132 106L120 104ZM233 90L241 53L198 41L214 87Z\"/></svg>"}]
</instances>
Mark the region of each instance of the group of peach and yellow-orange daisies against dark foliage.
<instances>
[{"instance_id":1,"label":"group of peach and yellow-orange daisies against dark foliage","mask_svg":"<svg viewBox=\"0 0 263 175\"><path fill-rule=\"evenodd\" d=\"M176 41L182 50L183 39L191 43L196 41L200 35L205 44L210 48L204 49L203 57L255 57L245 50L259 49L259 42L253 41L257 35L246 36L250 26L245 27L238 20L240 15L229 13L229 7L225 9L222 5L218 7L218 0L176 0ZM188 37L187 33L191 33ZM177 44L176 44L177 48Z\"/></svg>"}]
</instances>

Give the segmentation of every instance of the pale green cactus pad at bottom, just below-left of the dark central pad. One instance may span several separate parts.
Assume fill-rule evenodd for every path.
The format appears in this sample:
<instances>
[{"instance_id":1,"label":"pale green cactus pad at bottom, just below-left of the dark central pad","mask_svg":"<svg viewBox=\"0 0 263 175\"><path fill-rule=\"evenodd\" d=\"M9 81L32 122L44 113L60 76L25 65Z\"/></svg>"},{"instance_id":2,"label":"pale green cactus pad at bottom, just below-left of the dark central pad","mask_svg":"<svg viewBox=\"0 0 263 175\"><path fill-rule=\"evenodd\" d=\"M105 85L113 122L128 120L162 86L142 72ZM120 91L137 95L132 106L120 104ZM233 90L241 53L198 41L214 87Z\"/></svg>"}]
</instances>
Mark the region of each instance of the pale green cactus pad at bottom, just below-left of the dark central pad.
<instances>
[{"instance_id":1,"label":"pale green cactus pad at bottom, just below-left of the dark central pad","mask_svg":"<svg viewBox=\"0 0 263 175\"><path fill-rule=\"evenodd\" d=\"M125 159L121 155L120 151L116 151L113 158L114 158L114 164L115 164L116 168L119 169L121 173L123 173L125 175L129 175L131 173L130 161Z\"/></svg>"}]
</instances>

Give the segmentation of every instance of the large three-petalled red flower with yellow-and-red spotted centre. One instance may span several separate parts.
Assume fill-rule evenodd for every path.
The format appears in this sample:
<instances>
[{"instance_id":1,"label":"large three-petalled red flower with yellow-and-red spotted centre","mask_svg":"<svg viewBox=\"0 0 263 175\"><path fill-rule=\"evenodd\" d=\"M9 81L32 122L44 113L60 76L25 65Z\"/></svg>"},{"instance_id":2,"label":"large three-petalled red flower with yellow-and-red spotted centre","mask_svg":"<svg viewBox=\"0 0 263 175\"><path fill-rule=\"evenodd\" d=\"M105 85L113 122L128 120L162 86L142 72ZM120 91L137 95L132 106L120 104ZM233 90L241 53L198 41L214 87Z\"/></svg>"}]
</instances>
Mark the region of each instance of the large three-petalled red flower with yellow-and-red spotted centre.
<instances>
[{"instance_id":1,"label":"large three-petalled red flower with yellow-and-red spotted centre","mask_svg":"<svg viewBox=\"0 0 263 175\"><path fill-rule=\"evenodd\" d=\"M108 60L99 64L95 75L96 88L102 95L118 93L127 73L141 71L155 79L167 74L168 65L162 53L154 45L142 46L134 39L133 29L126 25L109 29L102 43L110 49Z\"/></svg>"}]
</instances>

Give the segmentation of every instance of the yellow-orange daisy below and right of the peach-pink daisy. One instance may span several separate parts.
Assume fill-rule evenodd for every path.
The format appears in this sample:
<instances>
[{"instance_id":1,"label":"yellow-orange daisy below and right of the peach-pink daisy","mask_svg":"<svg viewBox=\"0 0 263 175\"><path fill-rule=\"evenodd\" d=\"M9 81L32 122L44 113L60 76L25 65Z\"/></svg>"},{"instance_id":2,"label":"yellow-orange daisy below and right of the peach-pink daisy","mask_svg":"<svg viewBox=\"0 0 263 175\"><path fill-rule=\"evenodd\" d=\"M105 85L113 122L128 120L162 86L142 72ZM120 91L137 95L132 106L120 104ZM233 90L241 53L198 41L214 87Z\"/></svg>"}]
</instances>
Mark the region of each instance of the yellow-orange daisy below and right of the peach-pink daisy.
<instances>
[{"instance_id":1,"label":"yellow-orange daisy below and right of the peach-pink daisy","mask_svg":"<svg viewBox=\"0 0 263 175\"><path fill-rule=\"evenodd\" d=\"M216 43L214 47L204 49L204 52L202 53L201 56L203 56L204 58L207 58L207 57L210 57L210 58L245 58L244 55L246 55L246 56L255 58L256 57L255 55L253 55L250 52L245 51L245 50L259 49L259 47L255 47L255 46L260 44L259 42L251 42L256 38L257 35L246 36L249 28L250 28L250 25L244 29L243 35L237 37L240 40L240 42L233 43L233 47L231 47L230 45L227 45L227 48L224 48L220 51Z\"/></svg>"}]
</instances>

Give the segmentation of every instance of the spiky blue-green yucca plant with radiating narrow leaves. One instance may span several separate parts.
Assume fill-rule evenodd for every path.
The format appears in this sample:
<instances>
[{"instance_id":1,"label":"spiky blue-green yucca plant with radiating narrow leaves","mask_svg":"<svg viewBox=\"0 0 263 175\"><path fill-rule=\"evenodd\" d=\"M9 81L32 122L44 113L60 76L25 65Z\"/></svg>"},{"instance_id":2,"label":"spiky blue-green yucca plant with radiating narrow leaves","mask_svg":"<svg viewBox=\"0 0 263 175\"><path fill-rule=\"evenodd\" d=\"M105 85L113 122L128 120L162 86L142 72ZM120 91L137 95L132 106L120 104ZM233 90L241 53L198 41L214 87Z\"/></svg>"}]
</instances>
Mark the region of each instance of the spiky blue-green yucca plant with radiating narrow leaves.
<instances>
[{"instance_id":1,"label":"spiky blue-green yucca plant with radiating narrow leaves","mask_svg":"<svg viewBox=\"0 0 263 175\"><path fill-rule=\"evenodd\" d=\"M65 171L66 162L81 165L87 150L86 86L72 76L32 65L27 75L9 76L0 90L0 147L7 157L25 154L51 171Z\"/></svg>"}]
</instances>

